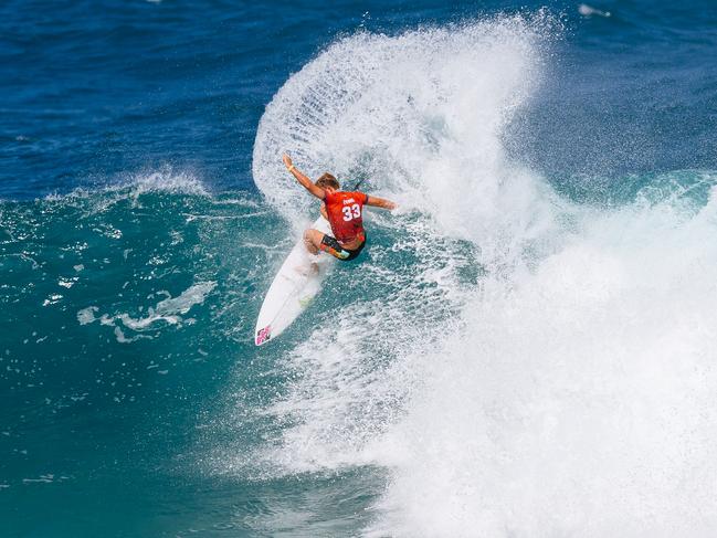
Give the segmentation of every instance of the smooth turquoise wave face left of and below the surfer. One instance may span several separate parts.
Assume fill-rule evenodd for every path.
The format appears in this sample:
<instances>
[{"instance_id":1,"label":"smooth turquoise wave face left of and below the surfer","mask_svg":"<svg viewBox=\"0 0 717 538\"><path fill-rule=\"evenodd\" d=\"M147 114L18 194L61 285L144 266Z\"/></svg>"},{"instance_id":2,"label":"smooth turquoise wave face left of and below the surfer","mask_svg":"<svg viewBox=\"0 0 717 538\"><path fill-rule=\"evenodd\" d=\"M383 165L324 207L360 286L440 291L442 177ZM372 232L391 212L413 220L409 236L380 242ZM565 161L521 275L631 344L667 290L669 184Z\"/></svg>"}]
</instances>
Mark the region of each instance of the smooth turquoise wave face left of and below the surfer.
<instances>
[{"instance_id":1,"label":"smooth turquoise wave face left of and below the surfer","mask_svg":"<svg viewBox=\"0 0 717 538\"><path fill-rule=\"evenodd\" d=\"M355 531L355 511L380 494L386 473L295 475L284 468L291 462L263 454L281 445L289 419L262 414L302 376L281 356L312 337L334 339L316 327L346 307L339 298L359 266L335 275L304 323L260 350L261 297L291 246L281 220L255 196L209 196L188 180L156 190L166 179L3 204L3 409L22 410L2 429L3 494L21 492L3 497L18 526L10 530L273 535L328 517L331 532ZM373 243L388 245L387 233L376 230ZM366 271L388 268L400 281L360 293L362 303L401 293L415 273L405 265L421 262L415 253L380 265L375 257L363 261L362 285L381 277ZM359 327L368 315L354 314ZM334 506L337 497L345 506ZM48 521L25 504L46 506Z\"/></svg>"}]
</instances>

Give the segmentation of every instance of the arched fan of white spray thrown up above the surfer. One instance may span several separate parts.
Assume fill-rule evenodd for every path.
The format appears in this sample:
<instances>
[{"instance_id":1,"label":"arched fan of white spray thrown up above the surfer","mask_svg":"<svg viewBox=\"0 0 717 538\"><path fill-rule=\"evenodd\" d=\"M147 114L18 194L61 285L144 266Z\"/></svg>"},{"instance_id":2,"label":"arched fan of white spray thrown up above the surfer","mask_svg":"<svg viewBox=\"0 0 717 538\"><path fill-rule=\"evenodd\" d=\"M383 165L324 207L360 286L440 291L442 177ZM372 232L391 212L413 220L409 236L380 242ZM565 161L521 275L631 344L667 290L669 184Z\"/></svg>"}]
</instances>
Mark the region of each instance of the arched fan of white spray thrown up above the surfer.
<instances>
[{"instance_id":1,"label":"arched fan of white spray thrown up above the surfer","mask_svg":"<svg viewBox=\"0 0 717 538\"><path fill-rule=\"evenodd\" d=\"M365 180L470 235L461 221L491 211L500 186L516 183L502 137L539 85L551 24L538 13L339 40L267 106L254 181L291 222L307 214L312 201L281 162L288 151L312 177Z\"/></svg>"}]
</instances>

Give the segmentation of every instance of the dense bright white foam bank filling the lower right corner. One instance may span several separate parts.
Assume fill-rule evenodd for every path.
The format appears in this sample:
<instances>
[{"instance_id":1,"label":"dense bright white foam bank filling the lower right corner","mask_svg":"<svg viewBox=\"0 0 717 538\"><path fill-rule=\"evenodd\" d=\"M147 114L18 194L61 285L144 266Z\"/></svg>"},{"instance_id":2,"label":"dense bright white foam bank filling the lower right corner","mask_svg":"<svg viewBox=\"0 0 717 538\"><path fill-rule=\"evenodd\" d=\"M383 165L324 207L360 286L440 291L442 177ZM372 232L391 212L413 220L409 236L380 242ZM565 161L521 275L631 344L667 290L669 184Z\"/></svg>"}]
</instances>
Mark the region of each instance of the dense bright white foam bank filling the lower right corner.
<instances>
[{"instance_id":1,"label":"dense bright white foam bank filling the lower right corner","mask_svg":"<svg viewBox=\"0 0 717 538\"><path fill-rule=\"evenodd\" d=\"M717 190L584 217L415 357L369 536L715 536Z\"/></svg>"}]
</instances>

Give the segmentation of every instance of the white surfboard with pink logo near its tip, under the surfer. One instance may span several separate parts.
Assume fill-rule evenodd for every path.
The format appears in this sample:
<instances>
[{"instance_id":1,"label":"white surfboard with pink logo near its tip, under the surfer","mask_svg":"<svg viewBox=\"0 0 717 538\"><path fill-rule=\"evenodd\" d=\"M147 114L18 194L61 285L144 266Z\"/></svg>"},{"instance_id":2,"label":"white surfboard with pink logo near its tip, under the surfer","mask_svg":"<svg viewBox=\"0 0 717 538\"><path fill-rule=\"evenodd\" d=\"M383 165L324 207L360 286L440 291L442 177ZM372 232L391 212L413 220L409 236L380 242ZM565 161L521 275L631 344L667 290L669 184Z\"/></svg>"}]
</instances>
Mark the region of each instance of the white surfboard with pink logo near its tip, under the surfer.
<instances>
[{"instance_id":1,"label":"white surfboard with pink logo near its tip, under the surfer","mask_svg":"<svg viewBox=\"0 0 717 538\"><path fill-rule=\"evenodd\" d=\"M319 217L312 228L324 233L331 232L324 217ZM326 271L335 261L328 254L309 254L303 239L294 245L264 297L256 319L254 344L266 344L292 325L319 292Z\"/></svg>"}]
</instances>

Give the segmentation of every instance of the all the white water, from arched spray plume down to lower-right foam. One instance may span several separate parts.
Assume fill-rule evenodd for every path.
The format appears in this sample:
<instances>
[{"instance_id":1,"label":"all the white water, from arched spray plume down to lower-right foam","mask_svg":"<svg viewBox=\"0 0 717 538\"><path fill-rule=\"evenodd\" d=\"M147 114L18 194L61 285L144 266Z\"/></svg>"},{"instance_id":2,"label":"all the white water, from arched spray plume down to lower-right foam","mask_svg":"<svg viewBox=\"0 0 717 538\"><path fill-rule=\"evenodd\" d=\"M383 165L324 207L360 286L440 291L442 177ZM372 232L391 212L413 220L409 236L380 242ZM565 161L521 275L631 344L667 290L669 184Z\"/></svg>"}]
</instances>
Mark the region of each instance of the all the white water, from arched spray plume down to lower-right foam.
<instances>
[{"instance_id":1,"label":"all the white water, from arched spray plume down to lower-right foam","mask_svg":"<svg viewBox=\"0 0 717 538\"><path fill-rule=\"evenodd\" d=\"M508 162L547 27L355 35L262 118L254 177L292 222L283 150L408 208L369 222L394 228L361 273L381 297L327 312L264 410L278 473L390 470L368 536L717 531L717 197L574 208Z\"/></svg>"}]
</instances>

